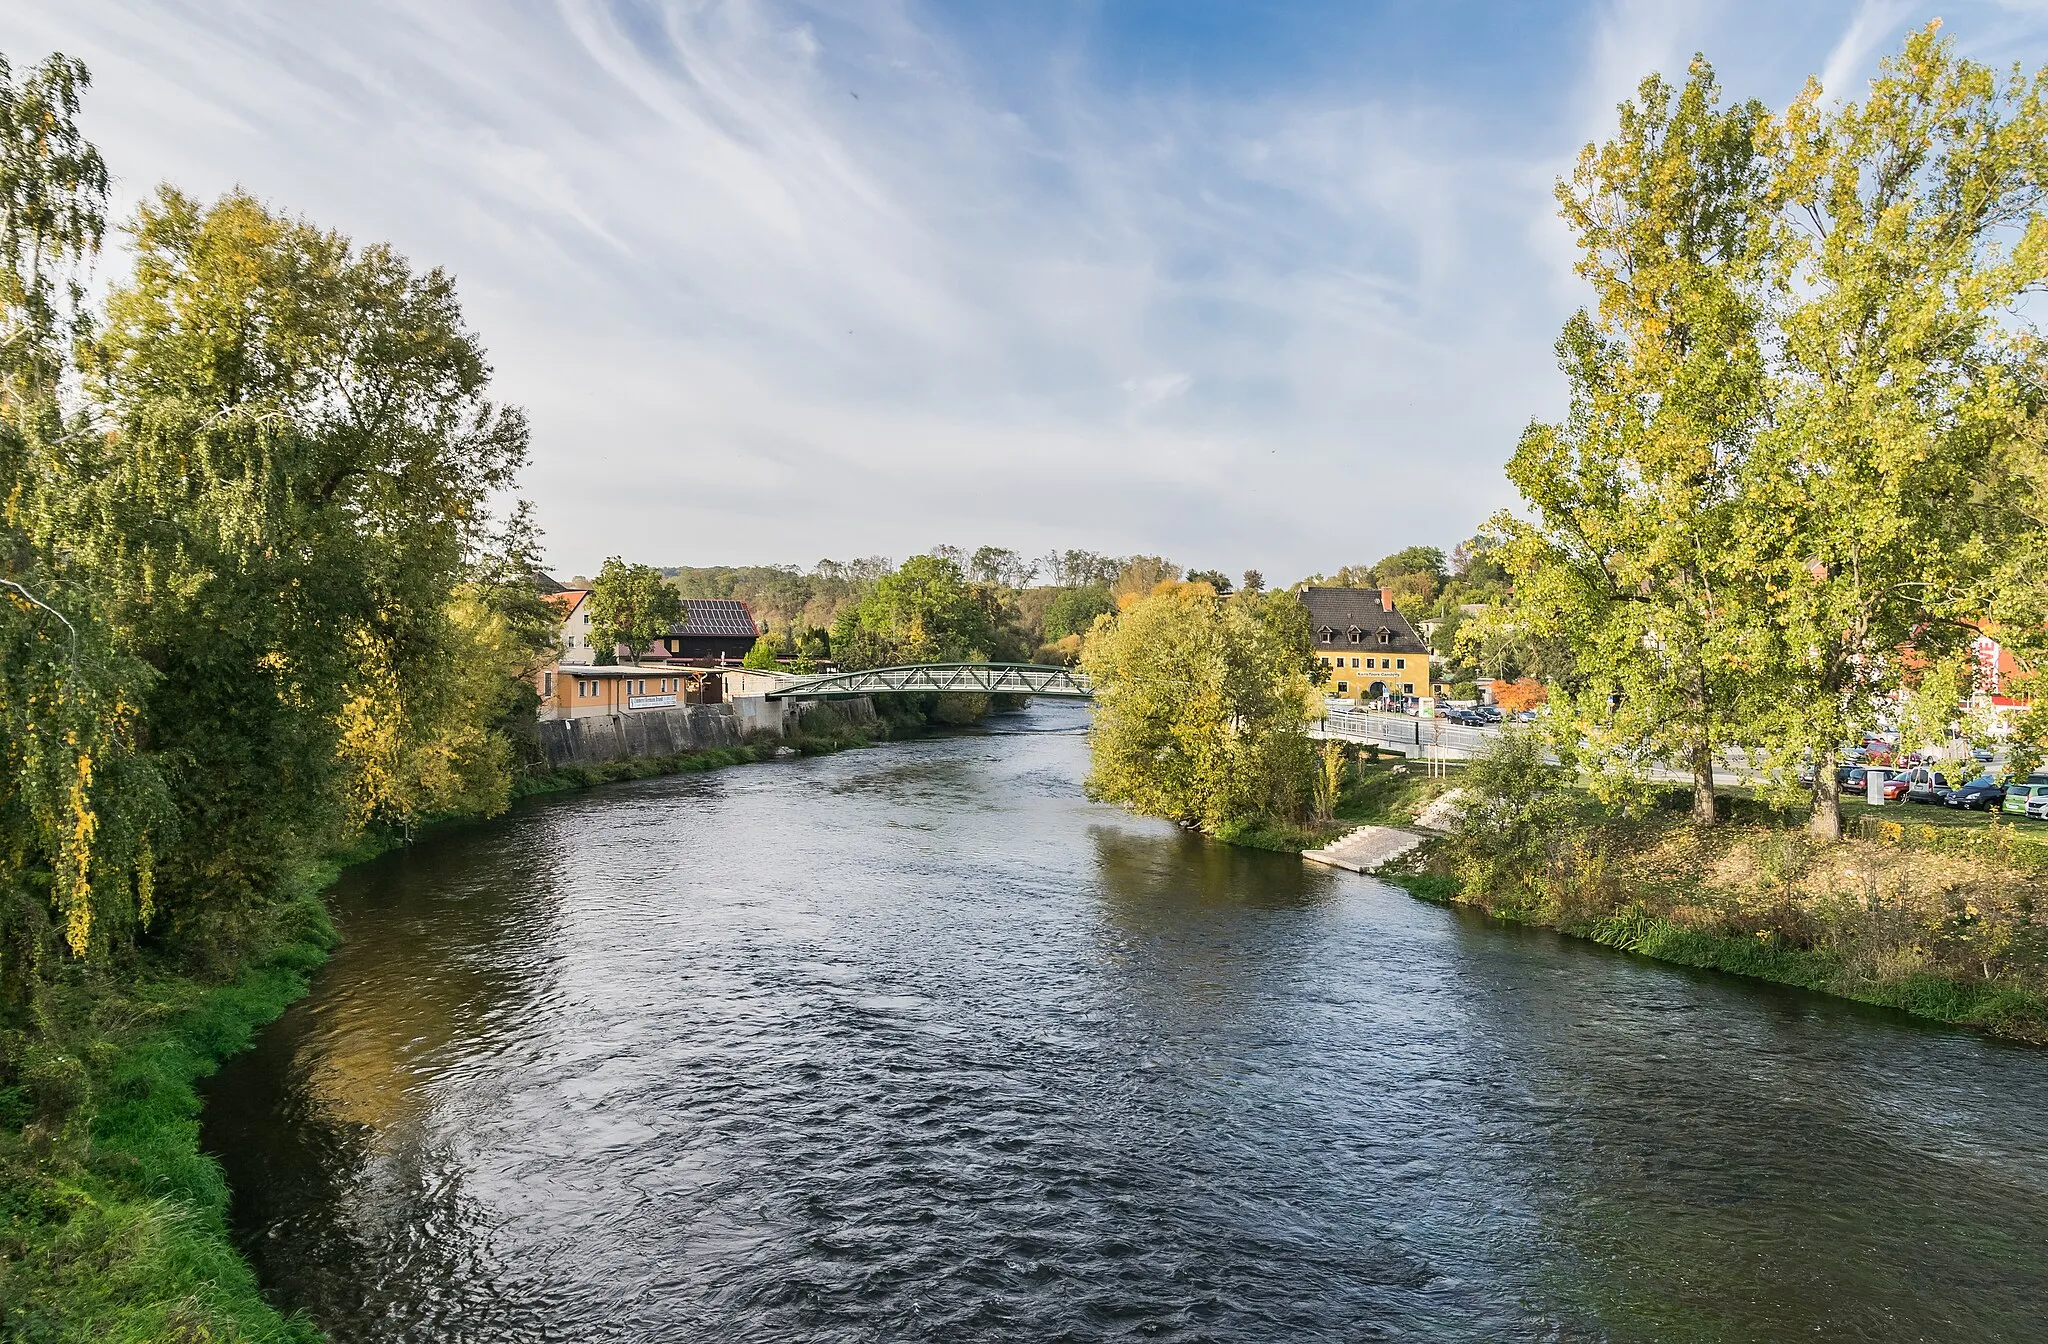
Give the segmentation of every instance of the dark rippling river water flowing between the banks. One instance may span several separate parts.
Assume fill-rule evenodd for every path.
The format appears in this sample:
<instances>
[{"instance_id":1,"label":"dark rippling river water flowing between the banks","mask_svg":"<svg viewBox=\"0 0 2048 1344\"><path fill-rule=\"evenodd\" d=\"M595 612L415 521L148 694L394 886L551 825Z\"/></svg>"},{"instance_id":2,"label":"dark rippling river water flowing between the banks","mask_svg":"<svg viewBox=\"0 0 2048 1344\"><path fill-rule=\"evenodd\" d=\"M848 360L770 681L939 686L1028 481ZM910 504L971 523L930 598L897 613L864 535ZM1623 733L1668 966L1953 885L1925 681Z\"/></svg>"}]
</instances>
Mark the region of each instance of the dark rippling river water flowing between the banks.
<instances>
[{"instance_id":1,"label":"dark rippling river water flowing between the banks","mask_svg":"<svg viewBox=\"0 0 2048 1344\"><path fill-rule=\"evenodd\" d=\"M2044 1340L2048 1053L1081 799L1083 711L350 871L213 1082L334 1340Z\"/></svg>"}]
</instances>

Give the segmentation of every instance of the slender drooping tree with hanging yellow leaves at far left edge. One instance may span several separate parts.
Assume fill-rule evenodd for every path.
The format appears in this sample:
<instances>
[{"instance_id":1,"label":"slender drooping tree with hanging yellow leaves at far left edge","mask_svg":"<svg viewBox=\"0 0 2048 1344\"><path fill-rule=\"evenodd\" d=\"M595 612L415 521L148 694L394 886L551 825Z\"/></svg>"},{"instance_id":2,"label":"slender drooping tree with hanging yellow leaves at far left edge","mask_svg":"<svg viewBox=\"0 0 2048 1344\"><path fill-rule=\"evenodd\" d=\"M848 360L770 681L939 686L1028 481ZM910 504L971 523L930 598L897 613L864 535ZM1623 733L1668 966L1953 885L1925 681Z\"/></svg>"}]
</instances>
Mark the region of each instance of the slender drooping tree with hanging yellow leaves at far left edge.
<instances>
[{"instance_id":1,"label":"slender drooping tree with hanging yellow leaves at far left edge","mask_svg":"<svg viewBox=\"0 0 2048 1344\"><path fill-rule=\"evenodd\" d=\"M66 527L90 426L66 387L90 332L82 268L106 227L106 168L78 129L88 86L53 55L0 59L0 994L37 983L49 914L76 957L150 920L162 783L143 750L147 668L96 619Z\"/></svg>"}]
</instances>

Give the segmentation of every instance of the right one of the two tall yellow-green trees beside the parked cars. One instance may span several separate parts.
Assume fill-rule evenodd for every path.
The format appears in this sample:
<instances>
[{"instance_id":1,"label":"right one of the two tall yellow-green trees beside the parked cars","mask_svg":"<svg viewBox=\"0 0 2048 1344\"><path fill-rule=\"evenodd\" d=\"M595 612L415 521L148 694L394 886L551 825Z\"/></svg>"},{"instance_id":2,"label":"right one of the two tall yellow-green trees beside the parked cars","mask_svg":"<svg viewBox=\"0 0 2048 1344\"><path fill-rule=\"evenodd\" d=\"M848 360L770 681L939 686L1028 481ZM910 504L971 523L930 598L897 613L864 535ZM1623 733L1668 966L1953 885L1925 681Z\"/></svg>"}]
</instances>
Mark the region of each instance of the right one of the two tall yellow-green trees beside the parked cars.
<instances>
[{"instance_id":1,"label":"right one of the two tall yellow-green trees beside the parked cars","mask_svg":"<svg viewBox=\"0 0 2048 1344\"><path fill-rule=\"evenodd\" d=\"M1833 838L1837 744L1903 649L1974 639L2044 541L2048 367L2021 305L2048 283L2048 72L2001 78L1929 25L1862 102L1808 84L1769 139L1782 361L1739 547L1792 680L1774 740L1817 762Z\"/></svg>"}]
</instances>

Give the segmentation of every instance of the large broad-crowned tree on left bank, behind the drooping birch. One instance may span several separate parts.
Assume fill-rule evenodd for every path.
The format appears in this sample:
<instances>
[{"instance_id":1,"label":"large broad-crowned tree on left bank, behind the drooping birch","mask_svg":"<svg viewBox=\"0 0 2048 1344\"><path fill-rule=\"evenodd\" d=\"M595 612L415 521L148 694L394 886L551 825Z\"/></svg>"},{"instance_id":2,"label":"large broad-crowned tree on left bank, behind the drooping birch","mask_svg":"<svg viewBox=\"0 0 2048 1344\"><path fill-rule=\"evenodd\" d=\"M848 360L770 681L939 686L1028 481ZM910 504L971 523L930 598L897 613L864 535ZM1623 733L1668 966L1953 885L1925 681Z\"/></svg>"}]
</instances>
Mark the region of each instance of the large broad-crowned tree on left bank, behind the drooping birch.
<instances>
[{"instance_id":1,"label":"large broad-crowned tree on left bank, behind the drooping birch","mask_svg":"<svg viewBox=\"0 0 2048 1344\"><path fill-rule=\"evenodd\" d=\"M467 742L449 688L477 643L451 602L526 426L489 402L453 281L387 246L172 188L129 238L135 272L90 371L106 432L70 477L72 549L154 670L143 711L182 822L162 856L176 914L231 930L354 803L410 809L420 779L467 795L502 764L444 750L451 731ZM393 760L408 764L389 774ZM457 762L473 766L461 783Z\"/></svg>"}]
</instances>

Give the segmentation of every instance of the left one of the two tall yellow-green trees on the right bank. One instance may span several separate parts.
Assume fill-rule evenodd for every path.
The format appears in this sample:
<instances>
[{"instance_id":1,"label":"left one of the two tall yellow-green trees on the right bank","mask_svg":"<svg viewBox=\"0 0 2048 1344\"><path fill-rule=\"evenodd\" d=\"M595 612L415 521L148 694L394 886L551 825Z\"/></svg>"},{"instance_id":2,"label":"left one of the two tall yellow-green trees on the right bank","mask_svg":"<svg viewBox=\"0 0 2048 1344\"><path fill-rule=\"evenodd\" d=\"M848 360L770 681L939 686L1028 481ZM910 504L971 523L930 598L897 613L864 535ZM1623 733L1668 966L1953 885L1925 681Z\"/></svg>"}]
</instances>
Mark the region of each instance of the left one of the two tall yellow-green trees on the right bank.
<instances>
[{"instance_id":1,"label":"left one of the two tall yellow-green trees on the right bank","mask_svg":"<svg viewBox=\"0 0 2048 1344\"><path fill-rule=\"evenodd\" d=\"M1569 416L1532 424L1507 465L1534 520L1495 520L1522 635L1573 647L1567 736L1599 779L1683 760L1700 824L1772 664L1739 547L1765 408L1765 121L1722 107L1696 59L1683 88L1642 80L1616 137L1559 182L1597 305L1556 344Z\"/></svg>"}]
</instances>

